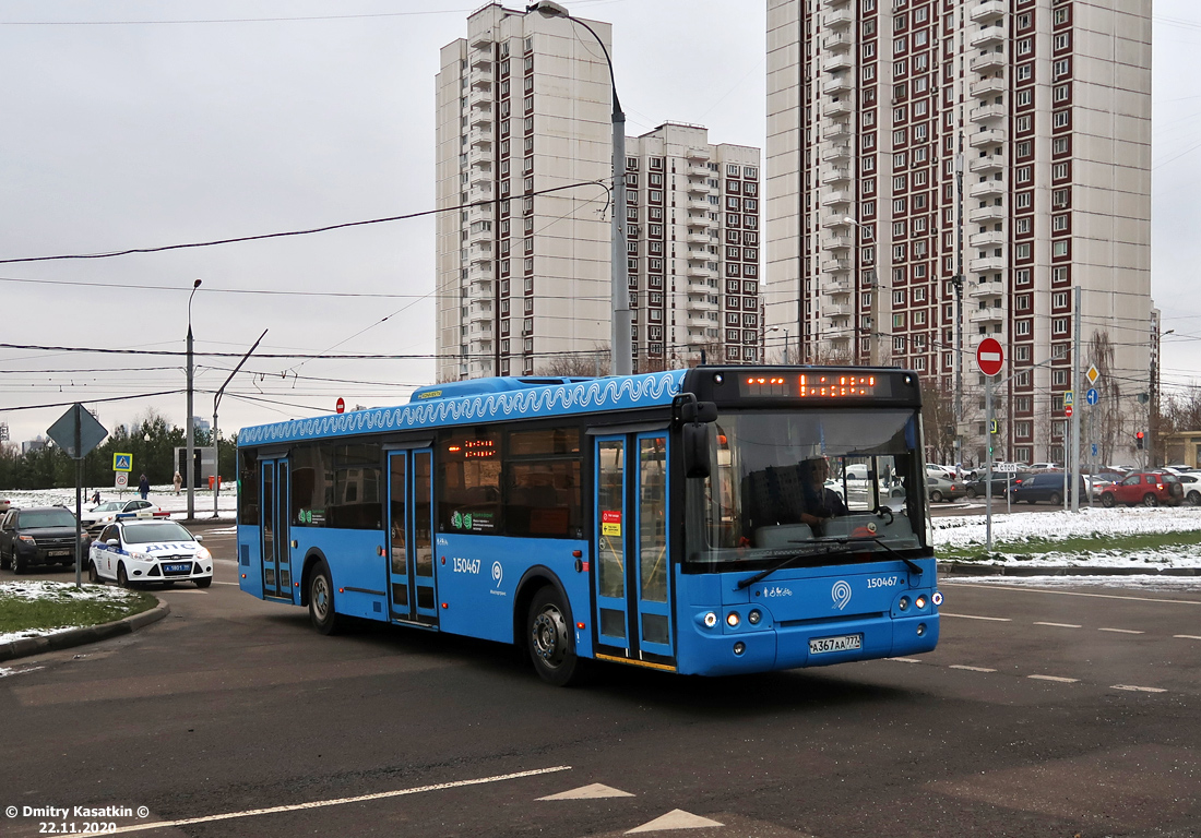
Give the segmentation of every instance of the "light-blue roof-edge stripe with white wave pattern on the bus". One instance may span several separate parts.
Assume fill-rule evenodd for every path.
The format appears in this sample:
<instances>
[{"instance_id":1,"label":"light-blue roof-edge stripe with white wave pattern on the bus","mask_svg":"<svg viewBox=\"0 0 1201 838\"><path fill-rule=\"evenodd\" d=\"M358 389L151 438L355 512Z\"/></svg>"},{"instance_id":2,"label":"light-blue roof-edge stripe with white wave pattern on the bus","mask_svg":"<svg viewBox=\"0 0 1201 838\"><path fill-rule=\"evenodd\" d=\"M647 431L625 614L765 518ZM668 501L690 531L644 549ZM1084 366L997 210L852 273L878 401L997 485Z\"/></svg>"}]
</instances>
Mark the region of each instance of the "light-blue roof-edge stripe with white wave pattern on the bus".
<instances>
[{"instance_id":1,"label":"light-blue roof-edge stripe with white wave pattern on the bus","mask_svg":"<svg viewBox=\"0 0 1201 838\"><path fill-rule=\"evenodd\" d=\"M289 419L241 429L238 432L238 447L466 425L518 417L533 419L670 405L680 395L685 372L686 370L671 370L622 378L597 378L508 393L435 399L398 407L374 407L312 419Z\"/></svg>"}]
</instances>

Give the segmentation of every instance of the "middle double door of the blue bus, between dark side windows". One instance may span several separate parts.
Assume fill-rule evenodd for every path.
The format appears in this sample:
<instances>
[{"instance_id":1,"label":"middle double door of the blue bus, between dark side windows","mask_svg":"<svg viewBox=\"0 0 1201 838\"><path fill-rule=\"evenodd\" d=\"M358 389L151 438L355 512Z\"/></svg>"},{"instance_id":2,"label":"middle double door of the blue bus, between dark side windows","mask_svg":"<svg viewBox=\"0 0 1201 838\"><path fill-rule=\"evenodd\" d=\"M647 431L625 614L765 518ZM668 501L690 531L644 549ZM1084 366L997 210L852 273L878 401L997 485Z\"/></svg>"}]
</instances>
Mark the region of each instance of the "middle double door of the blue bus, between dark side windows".
<instances>
[{"instance_id":1,"label":"middle double door of the blue bus, between dark side windows","mask_svg":"<svg viewBox=\"0 0 1201 838\"><path fill-rule=\"evenodd\" d=\"M388 599L392 618L437 625L432 459L428 448L388 455Z\"/></svg>"}]
</instances>

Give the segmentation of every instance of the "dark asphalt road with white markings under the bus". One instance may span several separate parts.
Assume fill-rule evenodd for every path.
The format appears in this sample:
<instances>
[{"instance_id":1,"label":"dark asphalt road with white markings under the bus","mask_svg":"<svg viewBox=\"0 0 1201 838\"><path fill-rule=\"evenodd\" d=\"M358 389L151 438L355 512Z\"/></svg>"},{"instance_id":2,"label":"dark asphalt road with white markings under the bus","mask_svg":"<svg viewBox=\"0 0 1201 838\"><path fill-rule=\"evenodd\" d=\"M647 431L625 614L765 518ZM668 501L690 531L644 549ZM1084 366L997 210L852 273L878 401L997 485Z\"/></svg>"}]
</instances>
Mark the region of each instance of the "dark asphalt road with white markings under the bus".
<instances>
[{"instance_id":1,"label":"dark asphalt road with white markings under the bus","mask_svg":"<svg viewBox=\"0 0 1201 838\"><path fill-rule=\"evenodd\" d=\"M1201 589L948 579L913 660L555 689L494 644L321 636L205 544L165 621L10 663L0 834L1201 834Z\"/></svg>"}]
</instances>

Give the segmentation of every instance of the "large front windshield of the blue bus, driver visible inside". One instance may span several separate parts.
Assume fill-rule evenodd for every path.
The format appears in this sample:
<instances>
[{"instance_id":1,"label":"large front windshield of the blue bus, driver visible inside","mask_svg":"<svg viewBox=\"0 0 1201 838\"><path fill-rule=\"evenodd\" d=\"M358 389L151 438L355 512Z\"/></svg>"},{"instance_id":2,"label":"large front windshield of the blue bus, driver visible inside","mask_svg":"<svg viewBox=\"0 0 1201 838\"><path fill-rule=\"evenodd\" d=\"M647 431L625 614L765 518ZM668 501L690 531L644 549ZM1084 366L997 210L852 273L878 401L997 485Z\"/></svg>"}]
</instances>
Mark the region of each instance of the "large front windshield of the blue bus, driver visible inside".
<instances>
[{"instance_id":1,"label":"large front windshield of the blue bus, driver visible inside","mask_svg":"<svg viewBox=\"0 0 1201 838\"><path fill-rule=\"evenodd\" d=\"M844 543L925 545L912 409L729 412L709 426L710 477L688 480L688 562L770 559Z\"/></svg>"}]
</instances>

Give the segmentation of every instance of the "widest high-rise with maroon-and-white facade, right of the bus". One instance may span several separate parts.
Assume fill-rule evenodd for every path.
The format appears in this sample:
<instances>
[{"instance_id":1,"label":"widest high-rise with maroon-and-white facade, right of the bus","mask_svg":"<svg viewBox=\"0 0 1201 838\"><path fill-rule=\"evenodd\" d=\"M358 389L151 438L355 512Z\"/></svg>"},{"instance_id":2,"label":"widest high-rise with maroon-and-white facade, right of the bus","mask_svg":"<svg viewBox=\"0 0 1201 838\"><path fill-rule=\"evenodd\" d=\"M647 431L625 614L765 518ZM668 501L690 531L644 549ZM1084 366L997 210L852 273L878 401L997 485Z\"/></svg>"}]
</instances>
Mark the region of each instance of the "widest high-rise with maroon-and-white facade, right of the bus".
<instances>
[{"instance_id":1,"label":"widest high-rise with maroon-and-white facade, right of the bus","mask_svg":"<svg viewBox=\"0 0 1201 838\"><path fill-rule=\"evenodd\" d=\"M766 156L765 311L805 358L912 367L928 401L957 390L979 461L974 351L997 337L996 456L1063 462L1078 323L1081 367L1103 372L1098 459L1133 461L1151 0L769 0Z\"/></svg>"}]
</instances>

